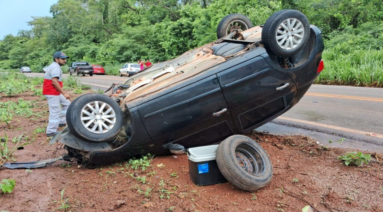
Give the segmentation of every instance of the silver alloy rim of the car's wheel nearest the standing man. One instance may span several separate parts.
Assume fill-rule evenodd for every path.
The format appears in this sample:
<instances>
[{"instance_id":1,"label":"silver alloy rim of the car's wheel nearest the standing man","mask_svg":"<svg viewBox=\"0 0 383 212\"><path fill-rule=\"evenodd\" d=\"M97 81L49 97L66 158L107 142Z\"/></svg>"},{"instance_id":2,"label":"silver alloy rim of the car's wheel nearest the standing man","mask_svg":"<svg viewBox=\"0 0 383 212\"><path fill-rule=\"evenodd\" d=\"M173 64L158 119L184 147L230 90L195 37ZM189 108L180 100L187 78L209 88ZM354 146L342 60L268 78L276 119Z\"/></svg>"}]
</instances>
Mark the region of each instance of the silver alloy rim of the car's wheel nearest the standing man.
<instances>
[{"instance_id":1,"label":"silver alloy rim of the car's wheel nearest the standing man","mask_svg":"<svg viewBox=\"0 0 383 212\"><path fill-rule=\"evenodd\" d=\"M85 129L97 134L110 131L116 124L116 112L102 101L86 104L81 110L80 118Z\"/></svg>"}]
</instances>

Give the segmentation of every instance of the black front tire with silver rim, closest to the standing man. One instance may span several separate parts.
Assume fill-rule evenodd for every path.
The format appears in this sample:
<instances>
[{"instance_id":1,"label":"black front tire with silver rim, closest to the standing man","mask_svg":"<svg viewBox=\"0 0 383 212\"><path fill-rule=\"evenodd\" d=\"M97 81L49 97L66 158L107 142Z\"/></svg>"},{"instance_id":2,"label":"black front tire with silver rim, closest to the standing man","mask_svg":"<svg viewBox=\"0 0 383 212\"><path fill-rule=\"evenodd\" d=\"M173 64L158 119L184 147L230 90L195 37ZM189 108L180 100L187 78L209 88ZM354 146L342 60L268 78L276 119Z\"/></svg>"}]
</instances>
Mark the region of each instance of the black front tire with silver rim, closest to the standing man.
<instances>
[{"instance_id":1,"label":"black front tire with silver rim, closest to the standing man","mask_svg":"<svg viewBox=\"0 0 383 212\"><path fill-rule=\"evenodd\" d=\"M84 109L85 111L91 112L91 114L93 114L93 112L88 108L87 104L94 106L96 104L96 101L100 104L106 103L108 106L106 106L102 111L100 111L100 114L97 114L97 116L100 116L94 116L93 119L82 121L82 117L92 118L92 116L88 116L82 111ZM99 107L101 108L101 105L99 105ZM107 114L102 114L102 112L107 112L107 110L110 108L111 112L108 112ZM111 121L115 122L113 126L112 124L110 124L110 122L106 122L105 120L103 120L103 116L110 116L110 114L115 115L115 119L111 118ZM87 93L77 97L72 103L70 103L69 108L67 110L66 118L70 132L73 133L75 136L90 142L110 141L111 139L116 137L123 125L123 112L121 111L120 106L116 103L115 100L101 93ZM94 120L96 120L97 123L99 123L99 121L103 122L105 125L110 127L110 130L103 132L104 126L101 124L102 127L100 130L100 125L95 126L97 124L93 123ZM108 120L110 120L110 118L108 118ZM84 126L87 124L90 125ZM92 130L90 129L93 127L93 131L95 132L92 132Z\"/></svg>"}]
</instances>

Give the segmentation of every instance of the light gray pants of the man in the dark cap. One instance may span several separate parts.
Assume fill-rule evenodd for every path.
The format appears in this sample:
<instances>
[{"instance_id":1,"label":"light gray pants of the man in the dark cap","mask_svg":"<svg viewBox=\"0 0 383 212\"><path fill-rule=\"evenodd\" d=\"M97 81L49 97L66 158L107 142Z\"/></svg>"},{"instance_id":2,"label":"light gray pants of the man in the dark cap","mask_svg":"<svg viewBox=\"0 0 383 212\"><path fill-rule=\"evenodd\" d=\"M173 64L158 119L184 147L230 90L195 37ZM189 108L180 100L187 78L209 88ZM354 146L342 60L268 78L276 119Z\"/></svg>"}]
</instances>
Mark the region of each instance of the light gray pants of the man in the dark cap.
<instances>
[{"instance_id":1,"label":"light gray pants of the man in the dark cap","mask_svg":"<svg viewBox=\"0 0 383 212\"><path fill-rule=\"evenodd\" d=\"M70 101L65 99L64 95L44 95L49 105L49 122L47 126L47 134L57 131L59 124L66 124L66 114ZM62 104L62 109L60 107Z\"/></svg>"}]
</instances>

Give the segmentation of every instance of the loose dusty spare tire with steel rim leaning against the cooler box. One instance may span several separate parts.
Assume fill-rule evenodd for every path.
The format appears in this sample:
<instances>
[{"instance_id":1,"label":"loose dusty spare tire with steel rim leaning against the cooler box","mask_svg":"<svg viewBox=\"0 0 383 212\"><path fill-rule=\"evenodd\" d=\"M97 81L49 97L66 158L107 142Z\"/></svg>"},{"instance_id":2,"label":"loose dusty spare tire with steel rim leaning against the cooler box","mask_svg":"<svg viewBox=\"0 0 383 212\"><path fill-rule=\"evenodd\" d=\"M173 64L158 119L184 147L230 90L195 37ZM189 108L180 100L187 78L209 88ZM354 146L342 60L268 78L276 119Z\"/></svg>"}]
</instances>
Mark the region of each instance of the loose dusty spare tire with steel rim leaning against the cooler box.
<instances>
[{"instance_id":1,"label":"loose dusty spare tire with steel rim leaning against the cooler box","mask_svg":"<svg viewBox=\"0 0 383 212\"><path fill-rule=\"evenodd\" d=\"M265 150L244 135L232 135L222 141L216 151L216 161L226 180L245 191L258 190L273 177L273 167Z\"/></svg>"}]
</instances>

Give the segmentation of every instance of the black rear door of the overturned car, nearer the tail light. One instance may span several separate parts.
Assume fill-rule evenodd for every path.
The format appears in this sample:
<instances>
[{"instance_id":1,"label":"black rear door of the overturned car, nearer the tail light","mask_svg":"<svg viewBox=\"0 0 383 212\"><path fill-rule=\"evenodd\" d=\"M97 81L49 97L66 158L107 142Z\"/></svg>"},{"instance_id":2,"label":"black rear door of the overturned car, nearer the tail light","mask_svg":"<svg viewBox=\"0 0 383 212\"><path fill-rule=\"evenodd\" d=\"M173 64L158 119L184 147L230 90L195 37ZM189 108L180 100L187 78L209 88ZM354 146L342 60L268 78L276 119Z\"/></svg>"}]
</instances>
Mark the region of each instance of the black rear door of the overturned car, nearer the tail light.
<instances>
[{"instance_id":1,"label":"black rear door of the overturned car, nearer the tail light","mask_svg":"<svg viewBox=\"0 0 383 212\"><path fill-rule=\"evenodd\" d=\"M296 85L256 57L217 74L234 123L241 133L270 121L289 108Z\"/></svg>"}]
</instances>

